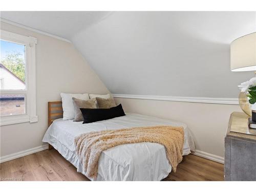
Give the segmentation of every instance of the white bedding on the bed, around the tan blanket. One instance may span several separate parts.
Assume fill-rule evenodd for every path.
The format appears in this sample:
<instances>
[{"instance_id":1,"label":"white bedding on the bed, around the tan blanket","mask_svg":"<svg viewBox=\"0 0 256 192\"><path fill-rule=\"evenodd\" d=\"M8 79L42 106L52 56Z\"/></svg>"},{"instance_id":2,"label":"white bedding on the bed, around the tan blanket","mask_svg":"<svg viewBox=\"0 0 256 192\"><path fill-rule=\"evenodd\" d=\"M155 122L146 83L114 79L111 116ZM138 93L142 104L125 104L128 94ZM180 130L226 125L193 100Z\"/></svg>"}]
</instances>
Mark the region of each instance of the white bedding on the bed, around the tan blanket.
<instances>
[{"instance_id":1,"label":"white bedding on the bed, around the tan blanket","mask_svg":"<svg viewBox=\"0 0 256 192\"><path fill-rule=\"evenodd\" d=\"M154 125L183 126L185 137L183 155L195 151L195 145L186 124L133 113L87 124L57 119L48 128L42 141L50 143L77 168L77 172L87 176L86 173L83 173L82 165L75 152L74 138L76 136L92 131ZM163 145L149 142L123 144L102 152L98 164L98 176L89 179L100 181L160 181L167 177L171 170L172 167L168 163Z\"/></svg>"}]
</instances>

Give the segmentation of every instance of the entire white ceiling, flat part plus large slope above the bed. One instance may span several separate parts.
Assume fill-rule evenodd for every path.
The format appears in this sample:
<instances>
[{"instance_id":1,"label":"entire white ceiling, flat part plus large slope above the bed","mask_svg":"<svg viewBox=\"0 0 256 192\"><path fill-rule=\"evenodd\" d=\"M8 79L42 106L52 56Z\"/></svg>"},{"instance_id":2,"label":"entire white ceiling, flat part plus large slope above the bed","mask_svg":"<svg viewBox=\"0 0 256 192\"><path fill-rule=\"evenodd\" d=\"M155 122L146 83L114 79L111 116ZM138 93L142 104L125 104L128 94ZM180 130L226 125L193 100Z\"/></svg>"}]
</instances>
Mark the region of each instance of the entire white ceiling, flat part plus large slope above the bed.
<instances>
[{"instance_id":1,"label":"entire white ceiling, flat part plus large slope above the bed","mask_svg":"<svg viewBox=\"0 0 256 192\"><path fill-rule=\"evenodd\" d=\"M71 40L116 94L237 97L237 85L253 76L230 72L229 45L256 31L256 12L2 12L1 17Z\"/></svg>"}]
</instances>

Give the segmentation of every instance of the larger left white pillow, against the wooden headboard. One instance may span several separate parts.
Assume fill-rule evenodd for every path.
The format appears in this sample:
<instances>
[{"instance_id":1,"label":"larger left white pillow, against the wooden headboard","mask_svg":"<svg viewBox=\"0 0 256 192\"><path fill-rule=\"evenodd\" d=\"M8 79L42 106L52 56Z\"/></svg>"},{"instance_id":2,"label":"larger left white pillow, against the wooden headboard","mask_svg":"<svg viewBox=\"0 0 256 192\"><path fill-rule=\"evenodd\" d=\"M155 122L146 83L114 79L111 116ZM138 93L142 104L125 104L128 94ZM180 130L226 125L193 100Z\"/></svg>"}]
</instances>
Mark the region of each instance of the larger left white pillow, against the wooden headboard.
<instances>
[{"instance_id":1,"label":"larger left white pillow, against the wooden headboard","mask_svg":"<svg viewBox=\"0 0 256 192\"><path fill-rule=\"evenodd\" d=\"M84 94L70 94L70 93L60 93L62 108L63 108L63 120L70 120L75 118L75 107L72 97L76 99L89 100L88 93Z\"/></svg>"}]
</instances>

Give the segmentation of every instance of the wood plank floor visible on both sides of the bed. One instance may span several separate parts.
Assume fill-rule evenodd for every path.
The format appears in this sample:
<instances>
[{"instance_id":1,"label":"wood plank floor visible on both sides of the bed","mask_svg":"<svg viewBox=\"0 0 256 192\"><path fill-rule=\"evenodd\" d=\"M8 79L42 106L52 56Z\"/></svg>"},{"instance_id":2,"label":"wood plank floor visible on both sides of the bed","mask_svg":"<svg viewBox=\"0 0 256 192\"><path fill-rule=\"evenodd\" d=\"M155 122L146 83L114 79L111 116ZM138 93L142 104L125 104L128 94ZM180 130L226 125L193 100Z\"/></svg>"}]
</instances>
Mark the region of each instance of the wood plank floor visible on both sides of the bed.
<instances>
[{"instance_id":1,"label":"wood plank floor visible on both sides of the bed","mask_svg":"<svg viewBox=\"0 0 256 192\"><path fill-rule=\"evenodd\" d=\"M164 181L222 181L223 164L187 155ZM0 178L25 181L88 181L56 150L45 150L0 164Z\"/></svg>"}]
</instances>

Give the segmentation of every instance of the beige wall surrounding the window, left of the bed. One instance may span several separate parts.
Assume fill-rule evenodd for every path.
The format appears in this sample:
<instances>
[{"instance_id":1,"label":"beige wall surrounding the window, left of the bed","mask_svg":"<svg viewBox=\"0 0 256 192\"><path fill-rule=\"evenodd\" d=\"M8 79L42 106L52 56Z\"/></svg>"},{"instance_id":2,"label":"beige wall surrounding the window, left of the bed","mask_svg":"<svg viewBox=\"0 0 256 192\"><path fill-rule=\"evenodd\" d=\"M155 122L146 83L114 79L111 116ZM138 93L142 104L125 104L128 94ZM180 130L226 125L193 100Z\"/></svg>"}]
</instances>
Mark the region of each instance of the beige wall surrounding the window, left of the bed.
<instances>
[{"instance_id":1,"label":"beige wall surrounding the window, left of the bed","mask_svg":"<svg viewBox=\"0 0 256 192\"><path fill-rule=\"evenodd\" d=\"M66 41L1 23L1 29L37 38L36 113L38 122L1 126L1 157L42 145L48 127L48 101L60 93L109 93L87 62Z\"/></svg>"}]
</instances>

